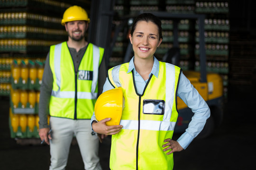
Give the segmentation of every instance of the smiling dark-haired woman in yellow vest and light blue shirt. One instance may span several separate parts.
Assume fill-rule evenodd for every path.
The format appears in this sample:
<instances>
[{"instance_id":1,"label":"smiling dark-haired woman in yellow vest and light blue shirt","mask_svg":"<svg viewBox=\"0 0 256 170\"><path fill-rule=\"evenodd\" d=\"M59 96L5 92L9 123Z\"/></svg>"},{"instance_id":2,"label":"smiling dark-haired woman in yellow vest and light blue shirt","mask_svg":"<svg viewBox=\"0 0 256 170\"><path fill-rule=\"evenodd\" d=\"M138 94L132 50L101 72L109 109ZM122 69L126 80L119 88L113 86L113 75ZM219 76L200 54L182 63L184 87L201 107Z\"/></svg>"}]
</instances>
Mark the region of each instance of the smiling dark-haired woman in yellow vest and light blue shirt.
<instances>
[{"instance_id":1,"label":"smiling dark-haired woman in yellow vest and light blue shirt","mask_svg":"<svg viewBox=\"0 0 256 170\"><path fill-rule=\"evenodd\" d=\"M134 57L108 72L103 91L121 86L125 98L120 125L106 126L93 116L92 129L113 135L111 170L172 170L173 153L185 149L197 136L210 109L183 75L181 68L154 57L162 42L161 21L152 14L139 15L133 23L130 42ZM195 113L186 132L172 140L178 117L179 96Z\"/></svg>"}]
</instances>

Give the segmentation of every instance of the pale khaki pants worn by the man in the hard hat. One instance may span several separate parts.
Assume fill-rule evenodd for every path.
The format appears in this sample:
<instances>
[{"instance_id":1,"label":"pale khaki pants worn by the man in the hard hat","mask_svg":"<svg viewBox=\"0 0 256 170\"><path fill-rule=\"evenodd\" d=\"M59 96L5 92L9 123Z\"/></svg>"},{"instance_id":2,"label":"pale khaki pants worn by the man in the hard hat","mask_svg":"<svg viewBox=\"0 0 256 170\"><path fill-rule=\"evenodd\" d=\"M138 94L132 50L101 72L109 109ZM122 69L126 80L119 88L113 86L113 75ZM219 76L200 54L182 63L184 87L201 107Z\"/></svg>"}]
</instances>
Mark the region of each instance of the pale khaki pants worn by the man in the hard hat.
<instances>
[{"instance_id":1,"label":"pale khaki pants worn by the man in the hard hat","mask_svg":"<svg viewBox=\"0 0 256 170\"><path fill-rule=\"evenodd\" d=\"M51 165L50 170L64 170L73 136L76 136L84 168L86 170L101 170L98 136L91 135L90 120L73 120L65 118L50 118L53 130L50 140Z\"/></svg>"}]
</instances>

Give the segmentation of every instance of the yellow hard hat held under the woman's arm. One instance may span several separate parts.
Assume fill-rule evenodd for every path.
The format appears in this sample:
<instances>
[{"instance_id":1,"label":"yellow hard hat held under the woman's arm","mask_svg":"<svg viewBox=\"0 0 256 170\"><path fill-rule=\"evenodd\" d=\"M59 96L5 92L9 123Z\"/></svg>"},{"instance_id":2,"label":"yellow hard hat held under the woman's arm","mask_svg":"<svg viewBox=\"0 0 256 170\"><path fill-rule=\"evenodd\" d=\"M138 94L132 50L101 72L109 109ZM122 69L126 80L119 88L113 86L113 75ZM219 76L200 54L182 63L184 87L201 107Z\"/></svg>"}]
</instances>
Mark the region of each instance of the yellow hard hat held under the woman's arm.
<instances>
[{"instance_id":1,"label":"yellow hard hat held under the woman's arm","mask_svg":"<svg viewBox=\"0 0 256 170\"><path fill-rule=\"evenodd\" d=\"M94 114L98 121L111 118L106 125L119 125L123 110L123 91L122 87L117 87L102 93L94 106Z\"/></svg>"}]
</instances>

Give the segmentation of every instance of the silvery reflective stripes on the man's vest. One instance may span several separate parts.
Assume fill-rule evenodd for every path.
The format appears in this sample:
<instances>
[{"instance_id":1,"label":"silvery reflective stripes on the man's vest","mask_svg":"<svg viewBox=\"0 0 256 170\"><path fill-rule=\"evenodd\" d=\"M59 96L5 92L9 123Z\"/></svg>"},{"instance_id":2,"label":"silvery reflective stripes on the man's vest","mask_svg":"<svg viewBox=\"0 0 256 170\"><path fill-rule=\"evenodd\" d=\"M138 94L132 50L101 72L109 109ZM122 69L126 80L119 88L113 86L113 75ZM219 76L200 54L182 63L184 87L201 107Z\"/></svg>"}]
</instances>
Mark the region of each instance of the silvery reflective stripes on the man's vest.
<instances>
[{"instance_id":1,"label":"silvery reflective stripes on the man's vest","mask_svg":"<svg viewBox=\"0 0 256 170\"><path fill-rule=\"evenodd\" d=\"M55 45L55 75L56 75L56 83L59 87L58 91L52 91L52 96L58 98L74 98L75 92L61 92L61 48L62 43ZM77 92L78 99L96 99L98 93L94 93L97 83L98 83L98 68L99 68L99 61L100 61L100 50L97 46L93 45L93 78L92 78L92 85L91 85L91 92Z\"/></svg>"}]
</instances>

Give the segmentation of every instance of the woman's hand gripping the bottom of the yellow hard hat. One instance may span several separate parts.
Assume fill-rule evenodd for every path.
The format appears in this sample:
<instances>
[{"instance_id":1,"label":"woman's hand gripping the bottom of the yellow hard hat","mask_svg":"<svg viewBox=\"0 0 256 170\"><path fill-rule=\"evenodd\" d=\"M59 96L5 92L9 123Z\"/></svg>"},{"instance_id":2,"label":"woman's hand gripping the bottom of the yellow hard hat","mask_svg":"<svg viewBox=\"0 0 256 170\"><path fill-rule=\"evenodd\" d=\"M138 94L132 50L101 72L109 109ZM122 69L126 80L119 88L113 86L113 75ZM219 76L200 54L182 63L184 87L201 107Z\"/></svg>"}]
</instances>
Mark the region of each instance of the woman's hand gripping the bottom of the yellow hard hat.
<instances>
[{"instance_id":1,"label":"woman's hand gripping the bottom of the yellow hard hat","mask_svg":"<svg viewBox=\"0 0 256 170\"><path fill-rule=\"evenodd\" d=\"M123 128L122 125L107 126L106 122L110 121L111 118L102 119L99 122L92 122L91 127L94 132L103 135L115 135Z\"/></svg>"}]
</instances>

